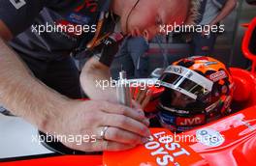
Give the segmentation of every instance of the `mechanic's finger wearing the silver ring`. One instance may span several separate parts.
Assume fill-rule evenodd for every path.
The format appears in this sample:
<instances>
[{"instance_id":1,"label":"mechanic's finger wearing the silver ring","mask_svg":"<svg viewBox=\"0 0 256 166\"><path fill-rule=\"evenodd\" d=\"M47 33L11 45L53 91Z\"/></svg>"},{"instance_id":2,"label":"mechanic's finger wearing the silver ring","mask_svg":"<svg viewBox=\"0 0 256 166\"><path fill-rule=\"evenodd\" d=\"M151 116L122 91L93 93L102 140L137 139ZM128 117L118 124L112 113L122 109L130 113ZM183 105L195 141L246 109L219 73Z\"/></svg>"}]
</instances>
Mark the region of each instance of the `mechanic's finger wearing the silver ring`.
<instances>
[{"instance_id":1,"label":"mechanic's finger wearing the silver ring","mask_svg":"<svg viewBox=\"0 0 256 166\"><path fill-rule=\"evenodd\" d=\"M99 127L99 130L102 129L102 127ZM109 141L130 145L144 144L147 141L146 137L141 137L137 134L116 127L108 127L104 138Z\"/></svg>"}]
</instances>

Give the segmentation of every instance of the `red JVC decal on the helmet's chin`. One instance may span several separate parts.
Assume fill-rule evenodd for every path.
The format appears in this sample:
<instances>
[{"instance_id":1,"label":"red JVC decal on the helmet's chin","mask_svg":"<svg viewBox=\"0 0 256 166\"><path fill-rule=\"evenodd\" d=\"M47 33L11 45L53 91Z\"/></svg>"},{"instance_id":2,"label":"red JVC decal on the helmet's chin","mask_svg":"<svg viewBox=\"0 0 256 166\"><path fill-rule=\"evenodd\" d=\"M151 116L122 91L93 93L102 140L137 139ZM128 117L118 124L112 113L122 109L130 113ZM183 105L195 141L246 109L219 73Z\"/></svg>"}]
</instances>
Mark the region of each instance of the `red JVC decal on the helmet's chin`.
<instances>
[{"instance_id":1,"label":"red JVC decal on the helmet's chin","mask_svg":"<svg viewBox=\"0 0 256 166\"><path fill-rule=\"evenodd\" d=\"M205 123L205 115L197 115L192 118L176 118L177 125L197 125L197 124L204 124Z\"/></svg>"}]
</instances>

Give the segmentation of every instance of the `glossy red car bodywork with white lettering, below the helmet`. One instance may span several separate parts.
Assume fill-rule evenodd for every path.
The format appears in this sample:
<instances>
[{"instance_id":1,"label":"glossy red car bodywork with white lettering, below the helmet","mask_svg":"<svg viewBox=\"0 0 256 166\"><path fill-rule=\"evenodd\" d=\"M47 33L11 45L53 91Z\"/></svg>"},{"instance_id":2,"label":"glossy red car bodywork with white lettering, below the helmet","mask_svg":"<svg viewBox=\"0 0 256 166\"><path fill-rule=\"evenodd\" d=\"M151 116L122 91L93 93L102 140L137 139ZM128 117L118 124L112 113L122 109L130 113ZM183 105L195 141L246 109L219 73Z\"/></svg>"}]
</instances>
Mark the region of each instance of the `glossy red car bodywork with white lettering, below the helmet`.
<instances>
[{"instance_id":1,"label":"glossy red car bodywork with white lettering, below the helmet","mask_svg":"<svg viewBox=\"0 0 256 166\"><path fill-rule=\"evenodd\" d=\"M189 136L196 138L197 132L211 129L222 135L221 145L211 147L195 139L183 139ZM247 108L237 114L226 117L211 124L206 124L193 130L177 134L176 140L167 143L173 150L167 151L161 137L175 135L164 128L153 128L152 139L143 146L127 152L104 152L103 155L57 156L41 159L23 160L1 165L88 165L88 166L157 166L157 161L168 160L167 165L183 166L217 166L217 165L254 165L256 156L256 106ZM165 133L163 133L165 132ZM159 134L160 133L160 134ZM162 134L162 135L161 135ZM161 137L159 136L161 135ZM179 137L178 137L179 136ZM180 140L178 140L180 139ZM162 153L161 153L162 152ZM166 153L168 152L168 153ZM182 152L182 153L181 153ZM181 154L180 154L181 153ZM188 153L188 154L187 154ZM157 160L158 158L158 160Z\"/></svg>"}]
</instances>

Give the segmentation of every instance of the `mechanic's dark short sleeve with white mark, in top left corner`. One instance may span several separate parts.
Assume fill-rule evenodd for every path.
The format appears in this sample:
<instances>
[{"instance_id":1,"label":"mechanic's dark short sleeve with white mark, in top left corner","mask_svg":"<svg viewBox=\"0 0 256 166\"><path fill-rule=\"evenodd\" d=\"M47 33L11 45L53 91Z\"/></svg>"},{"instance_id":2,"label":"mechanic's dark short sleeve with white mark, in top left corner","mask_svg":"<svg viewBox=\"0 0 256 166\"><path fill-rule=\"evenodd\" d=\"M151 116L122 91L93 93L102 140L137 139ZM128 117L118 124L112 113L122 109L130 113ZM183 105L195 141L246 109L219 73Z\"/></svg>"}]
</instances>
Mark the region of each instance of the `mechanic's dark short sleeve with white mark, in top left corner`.
<instances>
[{"instance_id":1,"label":"mechanic's dark short sleeve with white mark, in top left corner","mask_svg":"<svg viewBox=\"0 0 256 166\"><path fill-rule=\"evenodd\" d=\"M45 0L0 0L0 19L14 36L25 31L45 6Z\"/></svg>"}]
</instances>

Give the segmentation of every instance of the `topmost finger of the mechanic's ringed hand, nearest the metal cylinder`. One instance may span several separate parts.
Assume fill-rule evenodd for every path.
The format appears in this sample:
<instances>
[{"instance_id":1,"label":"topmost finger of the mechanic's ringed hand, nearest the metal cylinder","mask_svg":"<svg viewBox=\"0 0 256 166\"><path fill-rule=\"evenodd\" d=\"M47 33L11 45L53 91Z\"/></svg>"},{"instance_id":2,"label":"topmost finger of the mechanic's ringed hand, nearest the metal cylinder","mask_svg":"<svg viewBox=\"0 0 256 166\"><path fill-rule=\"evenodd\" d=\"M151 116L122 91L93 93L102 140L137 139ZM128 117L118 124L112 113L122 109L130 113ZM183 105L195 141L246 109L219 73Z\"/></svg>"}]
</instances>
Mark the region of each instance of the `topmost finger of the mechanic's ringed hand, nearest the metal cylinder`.
<instances>
[{"instance_id":1,"label":"topmost finger of the mechanic's ringed hand, nearest the metal cylinder","mask_svg":"<svg viewBox=\"0 0 256 166\"><path fill-rule=\"evenodd\" d=\"M147 124L146 118L144 117L144 111L142 109L133 109L124 105L103 102L102 111L111 114L124 115L126 117L130 117L134 120Z\"/></svg>"}]
</instances>

